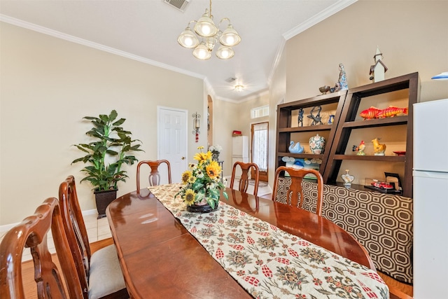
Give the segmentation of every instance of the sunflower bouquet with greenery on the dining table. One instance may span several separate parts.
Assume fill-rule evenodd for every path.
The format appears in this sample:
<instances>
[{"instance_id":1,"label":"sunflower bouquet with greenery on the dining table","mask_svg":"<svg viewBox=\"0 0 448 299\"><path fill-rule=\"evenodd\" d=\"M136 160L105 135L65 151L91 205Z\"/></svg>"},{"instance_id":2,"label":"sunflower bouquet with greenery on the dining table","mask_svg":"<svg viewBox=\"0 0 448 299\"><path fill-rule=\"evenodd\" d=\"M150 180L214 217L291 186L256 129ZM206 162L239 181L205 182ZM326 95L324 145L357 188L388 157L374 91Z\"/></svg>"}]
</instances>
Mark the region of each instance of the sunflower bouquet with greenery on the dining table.
<instances>
[{"instance_id":1,"label":"sunflower bouquet with greenery on the dining table","mask_svg":"<svg viewBox=\"0 0 448 299\"><path fill-rule=\"evenodd\" d=\"M183 172L183 186L174 197L181 195L183 202L186 202L188 206L208 203L211 209L215 209L218 206L221 190L225 190L225 184L221 181L221 167L218 162L211 159L211 151L203 153L203 148L204 146L197 148L200 152L193 157L197 160L197 164L190 163L189 169ZM228 198L225 191L223 195L226 199Z\"/></svg>"}]
</instances>

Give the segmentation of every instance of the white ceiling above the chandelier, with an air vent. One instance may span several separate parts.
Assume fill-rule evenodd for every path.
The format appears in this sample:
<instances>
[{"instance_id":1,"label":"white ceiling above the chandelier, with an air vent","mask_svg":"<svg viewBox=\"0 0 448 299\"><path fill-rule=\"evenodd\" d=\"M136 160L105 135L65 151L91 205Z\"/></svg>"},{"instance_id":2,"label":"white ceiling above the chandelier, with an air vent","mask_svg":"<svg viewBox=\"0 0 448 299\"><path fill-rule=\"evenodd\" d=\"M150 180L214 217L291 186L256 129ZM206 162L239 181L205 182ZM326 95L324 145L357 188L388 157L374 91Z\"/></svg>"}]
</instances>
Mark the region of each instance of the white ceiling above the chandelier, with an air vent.
<instances>
[{"instance_id":1,"label":"white ceiling above the chandelier, with an air vent","mask_svg":"<svg viewBox=\"0 0 448 299\"><path fill-rule=\"evenodd\" d=\"M209 0L189 0L183 12L164 0L0 0L0 20L202 78L214 96L241 101L268 89L286 40L355 1L214 0L216 25L229 18L241 36L230 60L200 61L177 43Z\"/></svg>"}]
</instances>

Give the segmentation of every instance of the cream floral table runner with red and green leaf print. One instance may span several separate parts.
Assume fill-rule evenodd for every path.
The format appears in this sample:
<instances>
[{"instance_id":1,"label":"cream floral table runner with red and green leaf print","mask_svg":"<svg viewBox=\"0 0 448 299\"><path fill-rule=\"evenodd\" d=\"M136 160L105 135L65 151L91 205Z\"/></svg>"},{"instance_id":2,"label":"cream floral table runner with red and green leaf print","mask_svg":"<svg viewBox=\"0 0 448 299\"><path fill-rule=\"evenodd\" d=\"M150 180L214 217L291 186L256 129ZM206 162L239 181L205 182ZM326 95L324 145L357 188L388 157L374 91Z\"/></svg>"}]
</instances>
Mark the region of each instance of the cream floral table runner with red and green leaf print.
<instances>
[{"instance_id":1,"label":"cream floral table runner with red and green leaf print","mask_svg":"<svg viewBox=\"0 0 448 299\"><path fill-rule=\"evenodd\" d=\"M149 189L254 298L389 298L374 270L225 202L209 214L190 213L174 198L180 186Z\"/></svg>"}]
</instances>

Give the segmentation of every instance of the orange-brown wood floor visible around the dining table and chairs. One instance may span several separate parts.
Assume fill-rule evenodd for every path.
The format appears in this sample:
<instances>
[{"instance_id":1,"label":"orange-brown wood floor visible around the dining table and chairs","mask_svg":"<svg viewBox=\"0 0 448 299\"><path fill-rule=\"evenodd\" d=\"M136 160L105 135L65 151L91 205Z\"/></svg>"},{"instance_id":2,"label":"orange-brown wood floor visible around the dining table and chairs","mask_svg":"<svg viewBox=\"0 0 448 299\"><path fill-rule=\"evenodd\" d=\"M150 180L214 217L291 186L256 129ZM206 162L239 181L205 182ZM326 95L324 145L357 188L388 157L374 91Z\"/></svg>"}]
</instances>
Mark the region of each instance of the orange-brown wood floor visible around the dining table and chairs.
<instances>
[{"instance_id":1,"label":"orange-brown wood floor visible around the dining table and chairs","mask_svg":"<svg viewBox=\"0 0 448 299\"><path fill-rule=\"evenodd\" d=\"M104 246L113 244L113 239L104 239L102 241L94 242L90 244L90 248L92 253L97 251L98 249L103 248ZM58 261L55 261L57 265L59 265ZM391 277L388 277L386 274L379 272L379 275L386 281L390 291L391 291L391 299L410 299L412 298L413 288L408 284L402 284L400 281L397 281ZM35 299L36 295L36 284L34 283L34 270L33 263L31 260L22 263L22 277L24 281L27 281L25 284L25 298Z\"/></svg>"}]
</instances>

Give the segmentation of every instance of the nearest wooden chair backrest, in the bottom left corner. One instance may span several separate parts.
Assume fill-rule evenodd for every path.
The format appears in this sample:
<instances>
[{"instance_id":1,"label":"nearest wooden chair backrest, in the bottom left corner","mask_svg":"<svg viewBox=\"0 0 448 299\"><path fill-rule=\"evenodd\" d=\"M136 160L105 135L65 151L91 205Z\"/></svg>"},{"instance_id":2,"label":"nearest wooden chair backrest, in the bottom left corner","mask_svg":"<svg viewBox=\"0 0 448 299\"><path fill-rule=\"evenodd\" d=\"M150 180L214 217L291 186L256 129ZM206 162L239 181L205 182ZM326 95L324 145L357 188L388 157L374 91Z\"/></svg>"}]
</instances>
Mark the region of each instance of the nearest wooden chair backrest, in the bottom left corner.
<instances>
[{"instance_id":1,"label":"nearest wooden chair backrest, in the bottom left corner","mask_svg":"<svg viewBox=\"0 0 448 299\"><path fill-rule=\"evenodd\" d=\"M50 197L36 209L34 215L9 230L1 241L0 298L25 298L24 285L30 283L22 280L25 278L22 277L22 253L25 247L29 247L33 257L37 298L82 298L76 277L65 276L66 293L62 276L48 251L47 235L50 228L61 269L76 274L62 225L59 202L55 197ZM69 280L73 282L68 284Z\"/></svg>"}]
</instances>

